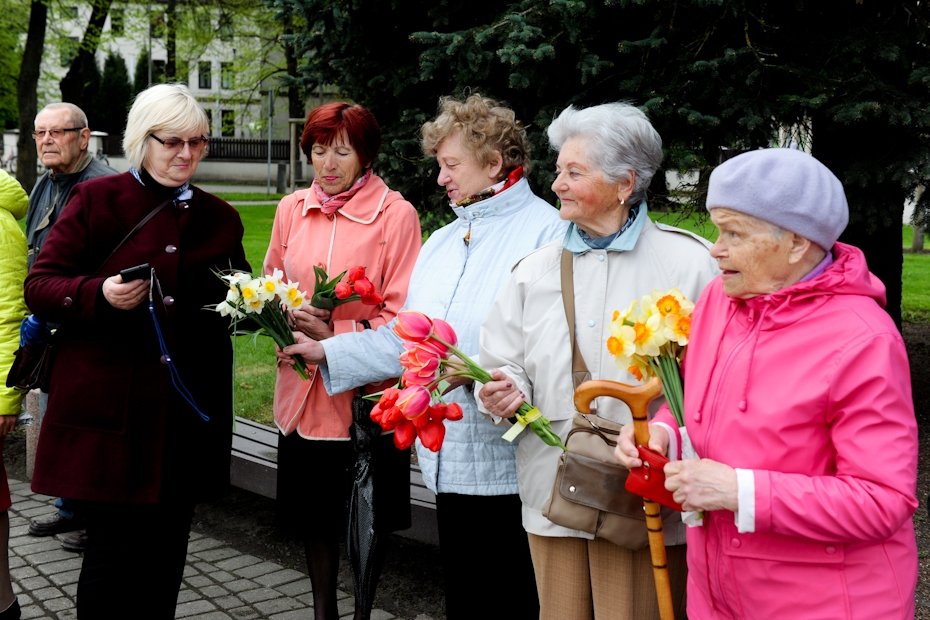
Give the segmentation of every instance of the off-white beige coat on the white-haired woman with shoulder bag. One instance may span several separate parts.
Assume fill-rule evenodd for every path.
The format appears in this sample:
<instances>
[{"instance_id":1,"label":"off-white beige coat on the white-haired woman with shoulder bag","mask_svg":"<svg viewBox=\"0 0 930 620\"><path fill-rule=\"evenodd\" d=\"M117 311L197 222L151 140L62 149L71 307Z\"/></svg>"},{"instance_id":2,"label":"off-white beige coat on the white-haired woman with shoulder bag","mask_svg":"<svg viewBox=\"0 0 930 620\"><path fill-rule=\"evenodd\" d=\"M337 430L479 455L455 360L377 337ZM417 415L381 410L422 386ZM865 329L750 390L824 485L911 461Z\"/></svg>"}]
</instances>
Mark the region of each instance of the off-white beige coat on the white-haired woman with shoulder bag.
<instances>
[{"instance_id":1,"label":"off-white beige coat on the white-haired woman with shoulder bag","mask_svg":"<svg viewBox=\"0 0 930 620\"><path fill-rule=\"evenodd\" d=\"M626 370L617 367L607 351L607 325L615 310L623 310L653 289L676 287L688 299L697 301L704 287L719 274L706 241L686 231L653 224L645 209L640 216L644 219L642 231L638 238L633 237L635 241L627 241L627 245L635 243L629 251L589 249L574 256L575 334L593 379L637 383ZM622 237L635 234L638 228L634 226ZM571 234L570 230L566 242ZM562 247L562 243L550 243L514 267L510 282L482 325L481 364L488 369L501 368L510 375L564 441L575 407L572 352L559 277ZM577 248L577 244L569 247ZM629 408L620 401L599 401L599 415L624 424L632 421ZM545 445L531 431L520 436L517 477L523 526L539 536L593 538L558 526L542 515L560 454L559 448ZM678 525L666 531L666 544L684 542L684 526Z\"/></svg>"}]
</instances>

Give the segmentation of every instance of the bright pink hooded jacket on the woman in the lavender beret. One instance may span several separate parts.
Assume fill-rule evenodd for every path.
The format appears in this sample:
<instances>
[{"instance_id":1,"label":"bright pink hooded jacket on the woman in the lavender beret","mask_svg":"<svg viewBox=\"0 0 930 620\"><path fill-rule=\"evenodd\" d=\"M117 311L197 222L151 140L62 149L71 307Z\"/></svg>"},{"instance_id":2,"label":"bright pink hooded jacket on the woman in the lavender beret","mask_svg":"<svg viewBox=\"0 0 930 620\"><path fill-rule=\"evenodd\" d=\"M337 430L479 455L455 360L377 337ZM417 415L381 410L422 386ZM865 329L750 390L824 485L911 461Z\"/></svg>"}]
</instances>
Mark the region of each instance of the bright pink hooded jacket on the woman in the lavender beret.
<instances>
[{"instance_id":1,"label":"bright pink hooded jacket on the woman in the lavender beret","mask_svg":"<svg viewBox=\"0 0 930 620\"><path fill-rule=\"evenodd\" d=\"M691 620L913 618L907 354L862 252L833 253L764 297L731 299L718 278L695 308L685 424L702 458L752 470L756 512L754 533L729 511L688 529Z\"/></svg>"}]
</instances>

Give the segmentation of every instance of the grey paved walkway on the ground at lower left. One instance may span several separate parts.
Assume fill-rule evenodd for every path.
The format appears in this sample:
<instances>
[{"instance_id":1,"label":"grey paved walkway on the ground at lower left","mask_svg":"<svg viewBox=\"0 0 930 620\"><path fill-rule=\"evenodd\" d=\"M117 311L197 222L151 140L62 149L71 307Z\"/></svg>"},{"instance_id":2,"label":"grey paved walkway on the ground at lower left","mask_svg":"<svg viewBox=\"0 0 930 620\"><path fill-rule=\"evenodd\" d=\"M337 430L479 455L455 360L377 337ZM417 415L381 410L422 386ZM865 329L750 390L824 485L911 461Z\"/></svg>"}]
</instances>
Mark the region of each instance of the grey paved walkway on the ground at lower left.
<instances>
[{"instance_id":1,"label":"grey paved walkway on the ground at lower left","mask_svg":"<svg viewBox=\"0 0 930 620\"><path fill-rule=\"evenodd\" d=\"M80 555L65 551L54 538L30 536L33 517L47 515L55 498L33 493L29 484L10 479L10 574L23 620L75 618L74 600L81 572ZM240 553L227 543L191 532L187 566L176 618L185 620L310 620L313 595L303 573ZM339 591L339 612L350 618L352 597ZM372 620L391 620L376 609ZM398 619L399 620L399 619ZM418 620L427 620L419 616Z\"/></svg>"}]
</instances>

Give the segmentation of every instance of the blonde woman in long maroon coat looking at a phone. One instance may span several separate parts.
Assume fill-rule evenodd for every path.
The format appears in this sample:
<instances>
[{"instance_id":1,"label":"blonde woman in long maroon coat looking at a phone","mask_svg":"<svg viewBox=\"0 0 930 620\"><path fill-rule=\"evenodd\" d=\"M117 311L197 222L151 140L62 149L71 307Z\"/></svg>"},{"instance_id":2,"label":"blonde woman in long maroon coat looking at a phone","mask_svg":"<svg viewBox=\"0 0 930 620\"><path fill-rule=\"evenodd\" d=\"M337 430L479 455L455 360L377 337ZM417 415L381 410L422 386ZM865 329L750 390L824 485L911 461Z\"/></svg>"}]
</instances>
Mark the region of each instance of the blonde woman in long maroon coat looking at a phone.
<instances>
[{"instance_id":1,"label":"blonde woman in long maroon coat looking at a phone","mask_svg":"<svg viewBox=\"0 0 930 620\"><path fill-rule=\"evenodd\" d=\"M207 132L186 87L142 92L130 172L74 189L26 280L60 324L32 488L86 508L78 618L174 618L194 504L229 482L228 320L204 306L249 266L238 213L190 184Z\"/></svg>"}]
</instances>

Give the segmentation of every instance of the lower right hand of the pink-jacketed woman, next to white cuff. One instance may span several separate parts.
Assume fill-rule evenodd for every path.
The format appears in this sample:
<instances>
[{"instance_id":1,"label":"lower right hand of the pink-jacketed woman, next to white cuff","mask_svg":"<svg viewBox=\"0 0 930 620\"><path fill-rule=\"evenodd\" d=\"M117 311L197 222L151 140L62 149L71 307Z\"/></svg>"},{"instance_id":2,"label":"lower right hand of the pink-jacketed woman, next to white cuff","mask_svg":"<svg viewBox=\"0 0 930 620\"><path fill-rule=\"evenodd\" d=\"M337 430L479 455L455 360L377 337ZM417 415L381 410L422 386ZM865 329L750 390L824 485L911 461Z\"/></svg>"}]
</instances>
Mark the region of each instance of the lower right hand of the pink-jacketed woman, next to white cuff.
<instances>
[{"instance_id":1,"label":"lower right hand of the pink-jacketed woman, next to white cuff","mask_svg":"<svg viewBox=\"0 0 930 620\"><path fill-rule=\"evenodd\" d=\"M710 459L668 463L665 488L685 510L739 509L736 470Z\"/></svg>"}]
</instances>

